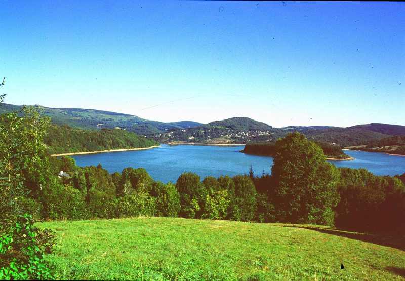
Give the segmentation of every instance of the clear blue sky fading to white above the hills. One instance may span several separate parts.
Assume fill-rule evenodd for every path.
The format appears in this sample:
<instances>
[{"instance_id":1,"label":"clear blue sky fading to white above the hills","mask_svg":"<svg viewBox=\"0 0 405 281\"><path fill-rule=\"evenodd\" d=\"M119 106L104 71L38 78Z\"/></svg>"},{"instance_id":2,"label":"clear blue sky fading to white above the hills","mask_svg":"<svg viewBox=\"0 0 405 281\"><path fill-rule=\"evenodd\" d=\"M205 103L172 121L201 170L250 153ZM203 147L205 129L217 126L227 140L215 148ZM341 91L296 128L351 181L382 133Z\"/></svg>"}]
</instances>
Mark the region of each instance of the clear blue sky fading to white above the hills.
<instances>
[{"instance_id":1,"label":"clear blue sky fading to white above the hills","mask_svg":"<svg viewBox=\"0 0 405 281\"><path fill-rule=\"evenodd\" d=\"M6 103L405 125L405 3L2 1Z\"/></svg>"}]
</instances>

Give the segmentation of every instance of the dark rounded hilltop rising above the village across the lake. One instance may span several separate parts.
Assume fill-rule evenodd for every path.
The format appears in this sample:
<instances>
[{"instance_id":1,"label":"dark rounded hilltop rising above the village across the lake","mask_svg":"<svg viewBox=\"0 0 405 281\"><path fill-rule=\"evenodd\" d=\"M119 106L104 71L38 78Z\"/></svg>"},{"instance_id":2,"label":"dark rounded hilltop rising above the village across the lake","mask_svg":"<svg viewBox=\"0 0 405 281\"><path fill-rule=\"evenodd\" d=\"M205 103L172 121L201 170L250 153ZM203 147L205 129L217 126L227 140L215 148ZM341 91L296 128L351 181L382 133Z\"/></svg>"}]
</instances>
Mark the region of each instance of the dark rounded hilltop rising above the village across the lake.
<instances>
[{"instance_id":1,"label":"dark rounded hilltop rising above the village across the lake","mask_svg":"<svg viewBox=\"0 0 405 281\"><path fill-rule=\"evenodd\" d=\"M214 121L208 123L203 127L227 128L236 131L268 131L273 128L266 123L255 121L247 117L233 117L221 121Z\"/></svg>"}]
</instances>

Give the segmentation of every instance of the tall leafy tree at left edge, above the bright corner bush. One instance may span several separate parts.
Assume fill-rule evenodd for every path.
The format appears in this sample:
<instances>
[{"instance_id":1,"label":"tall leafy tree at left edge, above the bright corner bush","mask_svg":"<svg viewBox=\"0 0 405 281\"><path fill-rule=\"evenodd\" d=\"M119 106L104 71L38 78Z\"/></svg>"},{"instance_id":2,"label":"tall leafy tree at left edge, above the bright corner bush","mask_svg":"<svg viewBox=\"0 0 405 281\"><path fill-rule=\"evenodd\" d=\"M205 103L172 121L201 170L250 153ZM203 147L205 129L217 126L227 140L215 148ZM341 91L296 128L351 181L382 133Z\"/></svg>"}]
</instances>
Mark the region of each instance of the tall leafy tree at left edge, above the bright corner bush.
<instances>
[{"instance_id":1,"label":"tall leafy tree at left edge, above the bright corner bush","mask_svg":"<svg viewBox=\"0 0 405 281\"><path fill-rule=\"evenodd\" d=\"M42 141L48 120L30 108L23 114L0 115L0 231L21 215L16 198L41 193L48 175Z\"/></svg>"}]
</instances>

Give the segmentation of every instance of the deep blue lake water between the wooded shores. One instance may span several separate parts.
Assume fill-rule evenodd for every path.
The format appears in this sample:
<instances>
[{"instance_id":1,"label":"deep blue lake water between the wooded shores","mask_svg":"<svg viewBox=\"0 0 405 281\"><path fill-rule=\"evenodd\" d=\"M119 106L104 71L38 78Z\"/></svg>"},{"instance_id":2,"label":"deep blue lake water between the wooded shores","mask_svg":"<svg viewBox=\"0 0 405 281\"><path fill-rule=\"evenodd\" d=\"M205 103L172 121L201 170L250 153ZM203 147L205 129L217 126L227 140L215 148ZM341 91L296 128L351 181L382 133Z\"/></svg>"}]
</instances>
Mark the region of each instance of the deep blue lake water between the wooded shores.
<instances>
[{"instance_id":1,"label":"deep blue lake water between the wooded shores","mask_svg":"<svg viewBox=\"0 0 405 281\"><path fill-rule=\"evenodd\" d=\"M248 173L252 165L255 174L270 173L273 158L240 153L244 146L162 145L135 151L106 152L72 156L79 166L99 163L110 173L126 167L145 168L153 179L176 182L183 172L206 176L234 176ZM351 161L331 161L338 167L366 168L376 175L405 173L405 157L385 153L345 151L356 158Z\"/></svg>"}]
</instances>

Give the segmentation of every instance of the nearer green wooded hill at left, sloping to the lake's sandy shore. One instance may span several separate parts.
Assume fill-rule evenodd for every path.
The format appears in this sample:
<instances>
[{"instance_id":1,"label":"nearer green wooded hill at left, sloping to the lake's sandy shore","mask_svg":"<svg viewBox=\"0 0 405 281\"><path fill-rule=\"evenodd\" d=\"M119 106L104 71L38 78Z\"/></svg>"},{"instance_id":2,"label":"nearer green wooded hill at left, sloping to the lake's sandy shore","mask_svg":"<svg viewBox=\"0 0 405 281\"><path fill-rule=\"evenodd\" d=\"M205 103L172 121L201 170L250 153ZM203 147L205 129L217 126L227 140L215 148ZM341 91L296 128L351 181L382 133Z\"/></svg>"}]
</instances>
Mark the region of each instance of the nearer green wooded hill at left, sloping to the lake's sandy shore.
<instances>
[{"instance_id":1,"label":"nearer green wooded hill at left, sloping to the lake's sandy shore","mask_svg":"<svg viewBox=\"0 0 405 281\"><path fill-rule=\"evenodd\" d=\"M157 142L119 129L81 130L67 125L51 125L44 138L50 154L143 148Z\"/></svg>"}]
</instances>

